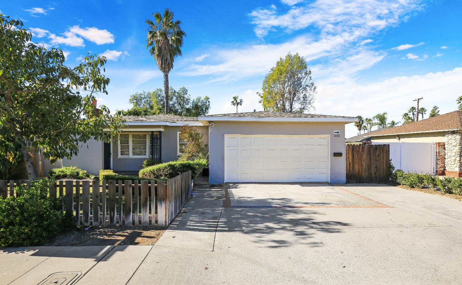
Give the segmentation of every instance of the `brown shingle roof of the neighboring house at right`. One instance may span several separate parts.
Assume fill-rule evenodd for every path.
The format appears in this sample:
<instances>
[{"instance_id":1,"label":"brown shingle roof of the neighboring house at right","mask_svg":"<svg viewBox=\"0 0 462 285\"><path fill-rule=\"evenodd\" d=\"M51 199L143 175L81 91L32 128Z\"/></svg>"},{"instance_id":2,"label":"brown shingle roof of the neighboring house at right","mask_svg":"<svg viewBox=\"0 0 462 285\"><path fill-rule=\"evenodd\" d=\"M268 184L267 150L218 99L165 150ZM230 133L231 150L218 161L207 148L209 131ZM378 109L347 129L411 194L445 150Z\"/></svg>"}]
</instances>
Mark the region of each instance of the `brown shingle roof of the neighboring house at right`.
<instances>
[{"instance_id":1,"label":"brown shingle roof of the neighboring house at right","mask_svg":"<svg viewBox=\"0 0 462 285\"><path fill-rule=\"evenodd\" d=\"M460 129L462 129L462 111L454 111L397 127L389 127L383 131L373 133L372 136Z\"/></svg>"}]
</instances>

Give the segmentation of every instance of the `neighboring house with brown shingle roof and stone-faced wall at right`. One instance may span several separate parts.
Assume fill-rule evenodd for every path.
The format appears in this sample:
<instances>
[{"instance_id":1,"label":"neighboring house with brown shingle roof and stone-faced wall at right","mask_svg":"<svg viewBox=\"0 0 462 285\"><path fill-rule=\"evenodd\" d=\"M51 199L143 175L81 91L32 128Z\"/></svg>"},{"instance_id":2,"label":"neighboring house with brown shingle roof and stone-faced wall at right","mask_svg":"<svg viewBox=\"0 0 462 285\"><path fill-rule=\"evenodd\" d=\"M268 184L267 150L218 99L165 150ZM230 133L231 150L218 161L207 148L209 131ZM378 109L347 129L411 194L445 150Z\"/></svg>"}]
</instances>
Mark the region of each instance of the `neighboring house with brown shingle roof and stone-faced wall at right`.
<instances>
[{"instance_id":1,"label":"neighboring house with brown shingle roof and stone-faced wall at right","mask_svg":"<svg viewBox=\"0 0 462 285\"><path fill-rule=\"evenodd\" d=\"M437 174L462 177L462 111L386 128L369 136L373 143L436 143Z\"/></svg>"}]
</instances>

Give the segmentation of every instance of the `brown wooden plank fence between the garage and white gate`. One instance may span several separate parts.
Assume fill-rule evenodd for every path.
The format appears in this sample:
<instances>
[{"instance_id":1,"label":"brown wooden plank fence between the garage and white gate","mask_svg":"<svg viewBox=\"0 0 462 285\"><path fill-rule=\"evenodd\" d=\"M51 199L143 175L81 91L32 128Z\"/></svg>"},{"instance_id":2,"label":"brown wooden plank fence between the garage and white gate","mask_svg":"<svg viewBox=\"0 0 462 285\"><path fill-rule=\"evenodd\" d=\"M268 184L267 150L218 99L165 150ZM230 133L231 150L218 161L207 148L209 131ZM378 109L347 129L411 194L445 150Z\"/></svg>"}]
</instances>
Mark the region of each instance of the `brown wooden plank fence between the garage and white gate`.
<instances>
[{"instance_id":1,"label":"brown wooden plank fence between the garage and white gate","mask_svg":"<svg viewBox=\"0 0 462 285\"><path fill-rule=\"evenodd\" d=\"M389 145L346 145L346 183L388 183Z\"/></svg>"}]
</instances>

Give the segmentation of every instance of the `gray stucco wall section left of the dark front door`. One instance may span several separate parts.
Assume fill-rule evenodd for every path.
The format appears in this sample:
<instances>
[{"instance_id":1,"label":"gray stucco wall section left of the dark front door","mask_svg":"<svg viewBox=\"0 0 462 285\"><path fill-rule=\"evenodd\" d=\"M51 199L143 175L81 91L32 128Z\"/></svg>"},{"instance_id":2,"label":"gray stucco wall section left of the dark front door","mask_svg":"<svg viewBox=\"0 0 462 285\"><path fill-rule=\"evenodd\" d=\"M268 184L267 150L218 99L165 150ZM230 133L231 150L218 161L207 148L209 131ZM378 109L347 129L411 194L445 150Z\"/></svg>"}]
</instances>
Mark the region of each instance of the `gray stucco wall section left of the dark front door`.
<instances>
[{"instance_id":1,"label":"gray stucco wall section left of the dark front door","mask_svg":"<svg viewBox=\"0 0 462 285\"><path fill-rule=\"evenodd\" d=\"M103 169L103 142L90 139L80 146L77 156L72 159L63 158L62 166L77 166L93 175L99 175L99 170Z\"/></svg>"}]
</instances>

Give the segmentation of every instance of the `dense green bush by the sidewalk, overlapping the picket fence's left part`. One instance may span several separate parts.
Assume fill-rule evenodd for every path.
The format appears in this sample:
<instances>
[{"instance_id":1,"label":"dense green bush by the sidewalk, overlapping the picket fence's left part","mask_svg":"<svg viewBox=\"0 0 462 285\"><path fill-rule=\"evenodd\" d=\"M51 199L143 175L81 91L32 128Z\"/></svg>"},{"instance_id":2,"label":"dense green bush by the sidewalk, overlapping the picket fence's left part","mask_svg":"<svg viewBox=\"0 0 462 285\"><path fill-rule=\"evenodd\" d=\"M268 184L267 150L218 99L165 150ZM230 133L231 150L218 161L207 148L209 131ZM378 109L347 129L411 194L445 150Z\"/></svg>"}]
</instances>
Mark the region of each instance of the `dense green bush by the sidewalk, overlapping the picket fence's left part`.
<instances>
[{"instance_id":1,"label":"dense green bush by the sidewalk, overlapping the picket fence's left part","mask_svg":"<svg viewBox=\"0 0 462 285\"><path fill-rule=\"evenodd\" d=\"M63 213L59 198L48 197L52 179L16 188L18 197L0 198L0 246L30 246L73 227L72 214Z\"/></svg>"}]
</instances>

